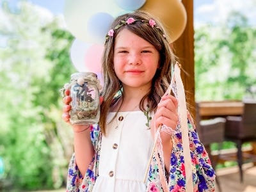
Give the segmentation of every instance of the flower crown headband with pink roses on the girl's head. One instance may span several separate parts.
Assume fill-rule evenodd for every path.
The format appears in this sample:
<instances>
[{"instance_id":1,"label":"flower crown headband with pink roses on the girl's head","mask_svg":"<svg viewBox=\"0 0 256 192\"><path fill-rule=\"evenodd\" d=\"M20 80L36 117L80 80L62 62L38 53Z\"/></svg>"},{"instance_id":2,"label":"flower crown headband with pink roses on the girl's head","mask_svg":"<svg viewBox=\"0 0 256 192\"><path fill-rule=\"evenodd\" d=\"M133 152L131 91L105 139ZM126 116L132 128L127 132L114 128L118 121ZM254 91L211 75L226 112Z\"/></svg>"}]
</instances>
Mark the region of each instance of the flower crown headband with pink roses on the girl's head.
<instances>
[{"instance_id":1,"label":"flower crown headband with pink roses on the girl's head","mask_svg":"<svg viewBox=\"0 0 256 192\"><path fill-rule=\"evenodd\" d=\"M134 22L137 22L137 21L141 21L141 22L148 22L148 24L152 27L152 28L157 28L163 35L163 37L166 39L166 35L164 35L164 32L162 31L162 29L160 29L159 27L156 26L156 21L154 19L150 19L150 20L140 20L140 19L134 19L132 17L129 17L126 21L125 20L121 20L120 21L120 24L118 24L117 26L115 26L114 29L110 29L108 31L108 34L106 35L106 42L108 41L108 39L111 37L111 36L114 36L114 33L116 31L116 29L119 29L120 27L122 26L125 26L125 25L129 25L129 24L133 24Z\"/></svg>"}]
</instances>

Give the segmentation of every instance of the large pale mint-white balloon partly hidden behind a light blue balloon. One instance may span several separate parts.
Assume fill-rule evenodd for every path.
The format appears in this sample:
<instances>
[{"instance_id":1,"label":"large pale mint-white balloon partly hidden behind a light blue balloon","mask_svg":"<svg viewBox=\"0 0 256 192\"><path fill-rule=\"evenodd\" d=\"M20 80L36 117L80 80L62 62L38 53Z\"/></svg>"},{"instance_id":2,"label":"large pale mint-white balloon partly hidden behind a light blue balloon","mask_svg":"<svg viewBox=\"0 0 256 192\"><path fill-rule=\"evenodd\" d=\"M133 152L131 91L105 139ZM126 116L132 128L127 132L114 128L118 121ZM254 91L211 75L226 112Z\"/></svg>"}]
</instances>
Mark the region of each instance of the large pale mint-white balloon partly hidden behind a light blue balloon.
<instances>
[{"instance_id":1,"label":"large pale mint-white balloon partly hidden behind a light blue balloon","mask_svg":"<svg viewBox=\"0 0 256 192\"><path fill-rule=\"evenodd\" d=\"M122 8L113 0L65 0L63 14L67 29L73 36L94 44L95 38L92 38L87 30L90 17L99 12L106 12L116 17L121 11Z\"/></svg>"}]
</instances>

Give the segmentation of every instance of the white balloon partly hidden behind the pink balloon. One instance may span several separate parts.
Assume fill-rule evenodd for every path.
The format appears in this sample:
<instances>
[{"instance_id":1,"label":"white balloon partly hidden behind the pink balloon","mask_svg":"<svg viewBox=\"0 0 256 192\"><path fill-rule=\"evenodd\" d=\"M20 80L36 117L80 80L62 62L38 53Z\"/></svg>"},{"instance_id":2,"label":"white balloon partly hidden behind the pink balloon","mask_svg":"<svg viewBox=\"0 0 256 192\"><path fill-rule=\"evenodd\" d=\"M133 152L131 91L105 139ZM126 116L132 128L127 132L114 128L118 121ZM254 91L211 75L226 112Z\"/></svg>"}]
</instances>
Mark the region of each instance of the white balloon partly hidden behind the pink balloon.
<instances>
[{"instance_id":1,"label":"white balloon partly hidden behind the pink balloon","mask_svg":"<svg viewBox=\"0 0 256 192\"><path fill-rule=\"evenodd\" d=\"M86 44L78 39L75 39L72 42L72 45L70 47L70 58L72 64L79 72L88 71L88 68L86 68L84 63L84 55L89 47L90 44Z\"/></svg>"}]
</instances>

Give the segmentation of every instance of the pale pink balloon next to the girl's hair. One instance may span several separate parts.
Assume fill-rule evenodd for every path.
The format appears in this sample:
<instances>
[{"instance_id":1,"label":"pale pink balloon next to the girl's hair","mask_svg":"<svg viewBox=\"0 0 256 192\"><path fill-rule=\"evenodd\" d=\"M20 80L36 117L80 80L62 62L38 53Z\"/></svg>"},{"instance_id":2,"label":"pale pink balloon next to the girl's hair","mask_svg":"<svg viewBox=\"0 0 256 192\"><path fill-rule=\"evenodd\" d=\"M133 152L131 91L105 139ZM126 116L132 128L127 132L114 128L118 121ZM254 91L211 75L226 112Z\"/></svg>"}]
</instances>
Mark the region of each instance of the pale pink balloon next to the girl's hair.
<instances>
[{"instance_id":1,"label":"pale pink balloon next to the girl's hair","mask_svg":"<svg viewBox=\"0 0 256 192\"><path fill-rule=\"evenodd\" d=\"M93 44L86 51L85 65L90 72L94 72L95 74L101 72L103 51L103 44Z\"/></svg>"}]
</instances>

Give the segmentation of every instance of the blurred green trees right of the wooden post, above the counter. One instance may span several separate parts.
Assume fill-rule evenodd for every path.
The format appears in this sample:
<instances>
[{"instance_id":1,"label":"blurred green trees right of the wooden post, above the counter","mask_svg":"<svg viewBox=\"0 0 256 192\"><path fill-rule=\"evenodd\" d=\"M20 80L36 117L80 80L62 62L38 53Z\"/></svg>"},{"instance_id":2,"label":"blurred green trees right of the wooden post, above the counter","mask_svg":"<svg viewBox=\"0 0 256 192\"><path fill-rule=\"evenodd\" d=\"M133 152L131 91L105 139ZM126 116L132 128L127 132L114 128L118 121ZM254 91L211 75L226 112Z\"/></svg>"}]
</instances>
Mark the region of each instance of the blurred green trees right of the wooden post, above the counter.
<instances>
[{"instance_id":1,"label":"blurred green trees right of the wooden post, above the counter","mask_svg":"<svg viewBox=\"0 0 256 192\"><path fill-rule=\"evenodd\" d=\"M245 97L256 84L255 28L232 12L223 25L195 29L196 100Z\"/></svg>"}]
</instances>

